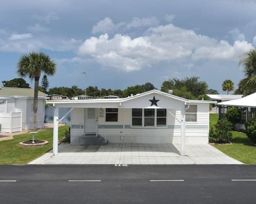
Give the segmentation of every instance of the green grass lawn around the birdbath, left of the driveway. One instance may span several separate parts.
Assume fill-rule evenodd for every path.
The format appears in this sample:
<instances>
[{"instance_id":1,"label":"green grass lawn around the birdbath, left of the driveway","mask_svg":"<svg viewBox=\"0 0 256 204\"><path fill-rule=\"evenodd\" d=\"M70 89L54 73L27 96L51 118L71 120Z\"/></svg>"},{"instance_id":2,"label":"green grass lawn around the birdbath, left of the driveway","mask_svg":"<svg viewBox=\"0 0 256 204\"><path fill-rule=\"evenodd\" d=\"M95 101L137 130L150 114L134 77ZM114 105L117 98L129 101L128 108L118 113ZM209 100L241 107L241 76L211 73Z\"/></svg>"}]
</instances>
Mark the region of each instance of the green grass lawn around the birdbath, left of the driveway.
<instances>
[{"instance_id":1,"label":"green grass lawn around the birdbath, left of the driveway","mask_svg":"<svg viewBox=\"0 0 256 204\"><path fill-rule=\"evenodd\" d=\"M59 127L59 139L65 135L68 126ZM31 134L20 134L11 140L0 141L0 164L27 164L52 149L53 129L41 130L35 135L36 140L47 140L42 147L22 147L19 142L31 140Z\"/></svg>"}]
</instances>

